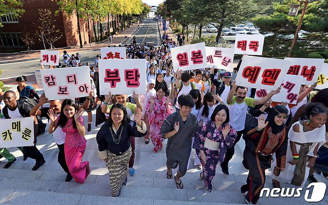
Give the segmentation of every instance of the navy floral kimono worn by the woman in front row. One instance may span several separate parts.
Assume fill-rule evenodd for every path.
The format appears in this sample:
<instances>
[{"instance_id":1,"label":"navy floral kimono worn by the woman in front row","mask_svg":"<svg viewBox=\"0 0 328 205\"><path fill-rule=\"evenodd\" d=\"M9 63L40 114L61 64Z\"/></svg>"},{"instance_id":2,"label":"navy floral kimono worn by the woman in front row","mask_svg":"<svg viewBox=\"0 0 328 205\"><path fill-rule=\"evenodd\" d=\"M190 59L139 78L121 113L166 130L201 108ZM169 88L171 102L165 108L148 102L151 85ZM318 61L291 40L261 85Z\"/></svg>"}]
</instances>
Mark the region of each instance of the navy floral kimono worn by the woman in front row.
<instances>
[{"instance_id":1,"label":"navy floral kimono worn by the woman in front row","mask_svg":"<svg viewBox=\"0 0 328 205\"><path fill-rule=\"evenodd\" d=\"M225 153L230 148L237 138L236 130L230 126L230 131L225 139L223 139L222 129L226 124L222 124L218 129L215 121L208 120L198 129L193 148L196 150L197 156L203 166L204 183L208 190L212 190L212 180L215 176L217 164L223 162ZM219 150L211 150L204 147L205 139L220 143ZM206 155L206 163L201 160L200 150L203 150Z\"/></svg>"}]
</instances>

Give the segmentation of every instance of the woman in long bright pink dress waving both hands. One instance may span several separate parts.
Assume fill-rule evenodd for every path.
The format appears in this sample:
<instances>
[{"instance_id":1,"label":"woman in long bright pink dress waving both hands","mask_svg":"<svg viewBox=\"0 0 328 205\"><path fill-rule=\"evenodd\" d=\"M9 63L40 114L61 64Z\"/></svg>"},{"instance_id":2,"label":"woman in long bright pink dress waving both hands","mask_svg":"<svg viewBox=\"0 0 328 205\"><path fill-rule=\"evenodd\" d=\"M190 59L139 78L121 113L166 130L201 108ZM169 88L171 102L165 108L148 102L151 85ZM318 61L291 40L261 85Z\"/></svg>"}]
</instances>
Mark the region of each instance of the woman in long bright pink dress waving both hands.
<instances>
[{"instance_id":1,"label":"woman in long bright pink dress waving both hands","mask_svg":"<svg viewBox=\"0 0 328 205\"><path fill-rule=\"evenodd\" d=\"M66 164L74 180L82 184L90 173L90 166L88 161L82 162L87 140L84 137L85 127L82 117L84 110L81 108L77 111L77 109L76 103L71 99L64 100L58 117L52 109L49 109L48 115L52 122L48 131L52 133L60 126L66 133L64 143Z\"/></svg>"}]
</instances>

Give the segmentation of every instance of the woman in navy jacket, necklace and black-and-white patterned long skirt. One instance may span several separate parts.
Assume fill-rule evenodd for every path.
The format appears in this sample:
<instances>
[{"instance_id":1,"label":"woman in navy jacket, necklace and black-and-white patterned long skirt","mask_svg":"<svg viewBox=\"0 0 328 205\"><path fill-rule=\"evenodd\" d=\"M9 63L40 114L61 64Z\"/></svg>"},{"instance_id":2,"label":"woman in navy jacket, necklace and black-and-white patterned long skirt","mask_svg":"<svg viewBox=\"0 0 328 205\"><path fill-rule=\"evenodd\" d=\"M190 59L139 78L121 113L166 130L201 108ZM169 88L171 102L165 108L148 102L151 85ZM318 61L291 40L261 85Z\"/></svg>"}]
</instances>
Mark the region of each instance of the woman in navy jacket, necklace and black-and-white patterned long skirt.
<instances>
[{"instance_id":1,"label":"woman in navy jacket, necklace and black-and-white patterned long skirt","mask_svg":"<svg viewBox=\"0 0 328 205\"><path fill-rule=\"evenodd\" d=\"M130 138L143 137L146 131L140 108L134 121L122 104L115 103L108 120L97 133L99 157L107 164L113 197L119 197L122 185L127 183L128 163L132 154Z\"/></svg>"}]
</instances>

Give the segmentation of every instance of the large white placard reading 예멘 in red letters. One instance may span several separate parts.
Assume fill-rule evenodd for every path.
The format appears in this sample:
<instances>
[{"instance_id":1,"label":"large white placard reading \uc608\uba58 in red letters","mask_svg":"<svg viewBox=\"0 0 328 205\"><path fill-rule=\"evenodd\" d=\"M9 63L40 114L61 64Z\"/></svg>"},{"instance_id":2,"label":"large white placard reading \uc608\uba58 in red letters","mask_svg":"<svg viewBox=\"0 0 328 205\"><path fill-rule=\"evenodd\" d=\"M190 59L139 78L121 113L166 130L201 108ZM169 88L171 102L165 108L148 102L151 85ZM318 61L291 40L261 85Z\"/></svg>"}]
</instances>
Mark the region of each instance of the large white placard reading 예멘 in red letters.
<instances>
[{"instance_id":1,"label":"large white placard reading \uc608\uba58 in red letters","mask_svg":"<svg viewBox=\"0 0 328 205\"><path fill-rule=\"evenodd\" d=\"M236 77L236 85L276 90L283 82L290 63L281 59L244 56Z\"/></svg>"}]
</instances>

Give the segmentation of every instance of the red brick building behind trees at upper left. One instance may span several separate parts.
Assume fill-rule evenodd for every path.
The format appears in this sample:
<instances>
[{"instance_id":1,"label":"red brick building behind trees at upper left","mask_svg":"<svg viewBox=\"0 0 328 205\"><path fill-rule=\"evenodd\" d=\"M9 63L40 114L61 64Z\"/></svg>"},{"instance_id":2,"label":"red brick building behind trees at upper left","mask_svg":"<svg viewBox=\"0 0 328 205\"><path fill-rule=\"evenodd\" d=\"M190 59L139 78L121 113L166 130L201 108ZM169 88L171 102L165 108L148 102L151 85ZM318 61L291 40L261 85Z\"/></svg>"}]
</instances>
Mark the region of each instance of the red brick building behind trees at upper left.
<instances>
[{"instance_id":1,"label":"red brick building behind trees at upper left","mask_svg":"<svg viewBox=\"0 0 328 205\"><path fill-rule=\"evenodd\" d=\"M8 11L6 16L1 16L0 18L3 24L3 27L0 27L0 53L13 53L27 50L27 47L24 46L21 40L21 35L24 29L27 32L35 33L32 23L37 22L39 18L39 8L51 10L53 19L56 20L55 27L59 29L63 35L61 39L53 44L55 48L79 45L77 18L75 14L68 16L60 12L58 15L54 15L55 11L58 10L58 5L52 0L22 0L22 2L25 12L21 17L16 17L14 13ZM95 32L93 30L93 23L96 24L95 30L97 35L98 31L100 31L100 26L102 26L103 34L105 34L108 29L112 32L115 24L118 25L118 18L115 15L110 15L109 19L106 18L102 24L89 20L90 35L94 38ZM82 42L87 44L89 43L87 20L81 19L80 24ZM49 45L46 45L47 49L49 47ZM35 44L30 46L30 48L32 50L44 49L43 42L39 42L36 39Z\"/></svg>"}]
</instances>

